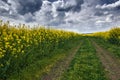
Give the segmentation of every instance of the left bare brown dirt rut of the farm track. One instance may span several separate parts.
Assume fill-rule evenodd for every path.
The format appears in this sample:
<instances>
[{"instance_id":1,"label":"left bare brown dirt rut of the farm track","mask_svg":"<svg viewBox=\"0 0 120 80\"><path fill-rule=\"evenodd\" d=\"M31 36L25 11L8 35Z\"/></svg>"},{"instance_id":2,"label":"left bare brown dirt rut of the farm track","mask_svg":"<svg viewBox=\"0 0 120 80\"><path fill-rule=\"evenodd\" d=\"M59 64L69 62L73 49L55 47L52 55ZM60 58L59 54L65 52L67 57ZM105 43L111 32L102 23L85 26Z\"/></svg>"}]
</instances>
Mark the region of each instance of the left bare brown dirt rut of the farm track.
<instances>
[{"instance_id":1,"label":"left bare brown dirt rut of the farm track","mask_svg":"<svg viewBox=\"0 0 120 80\"><path fill-rule=\"evenodd\" d=\"M78 51L80 45L72 49L70 54L63 60L57 62L48 75L45 75L42 80L60 80L61 75L69 67L70 62Z\"/></svg>"}]
</instances>

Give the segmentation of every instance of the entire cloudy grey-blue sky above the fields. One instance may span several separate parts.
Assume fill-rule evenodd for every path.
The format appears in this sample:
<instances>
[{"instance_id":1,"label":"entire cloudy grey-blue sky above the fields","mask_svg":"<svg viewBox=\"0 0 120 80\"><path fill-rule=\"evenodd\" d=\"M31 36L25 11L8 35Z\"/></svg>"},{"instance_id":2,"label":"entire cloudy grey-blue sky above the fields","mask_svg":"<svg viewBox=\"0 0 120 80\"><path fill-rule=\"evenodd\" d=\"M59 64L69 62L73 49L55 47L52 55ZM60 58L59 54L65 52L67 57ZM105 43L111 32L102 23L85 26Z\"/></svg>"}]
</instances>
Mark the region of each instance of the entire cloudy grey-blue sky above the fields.
<instances>
[{"instance_id":1,"label":"entire cloudy grey-blue sky above the fields","mask_svg":"<svg viewBox=\"0 0 120 80\"><path fill-rule=\"evenodd\" d=\"M0 0L0 19L75 32L120 26L120 0Z\"/></svg>"}]
</instances>

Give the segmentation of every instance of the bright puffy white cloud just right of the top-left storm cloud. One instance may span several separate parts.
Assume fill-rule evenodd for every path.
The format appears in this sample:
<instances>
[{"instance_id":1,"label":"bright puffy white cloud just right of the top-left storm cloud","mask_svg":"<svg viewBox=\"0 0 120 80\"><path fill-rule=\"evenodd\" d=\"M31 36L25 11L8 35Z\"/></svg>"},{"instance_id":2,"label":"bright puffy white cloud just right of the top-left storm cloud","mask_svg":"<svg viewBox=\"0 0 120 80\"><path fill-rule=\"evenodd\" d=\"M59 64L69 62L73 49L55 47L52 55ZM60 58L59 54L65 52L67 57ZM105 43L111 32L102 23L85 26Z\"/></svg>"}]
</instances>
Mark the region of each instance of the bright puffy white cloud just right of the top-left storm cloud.
<instances>
[{"instance_id":1,"label":"bright puffy white cloud just right of the top-left storm cloud","mask_svg":"<svg viewBox=\"0 0 120 80\"><path fill-rule=\"evenodd\" d=\"M36 22L41 23L42 25L48 24L51 16L52 6L51 2L45 0L41 6L41 9L34 13Z\"/></svg>"}]
</instances>

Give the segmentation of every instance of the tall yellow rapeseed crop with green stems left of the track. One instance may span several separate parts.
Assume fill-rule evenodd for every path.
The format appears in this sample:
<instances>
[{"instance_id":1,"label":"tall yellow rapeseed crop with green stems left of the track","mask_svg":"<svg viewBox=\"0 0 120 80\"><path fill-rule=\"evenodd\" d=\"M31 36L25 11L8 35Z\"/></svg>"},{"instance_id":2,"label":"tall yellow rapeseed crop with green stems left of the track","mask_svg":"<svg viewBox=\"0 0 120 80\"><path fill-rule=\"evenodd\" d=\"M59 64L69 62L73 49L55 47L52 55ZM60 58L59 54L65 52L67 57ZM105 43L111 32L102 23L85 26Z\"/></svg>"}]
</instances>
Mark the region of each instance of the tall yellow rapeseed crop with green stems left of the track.
<instances>
[{"instance_id":1,"label":"tall yellow rapeseed crop with green stems left of the track","mask_svg":"<svg viewBox=\"0 0 120 80\"><path fill-rule=\"evenodd\" d=\"M0 78L6 79L37 59L53 55L57 49L67 49L78 34L44 28L17 27L0 23Z\"/></svg>"}]
</instances>

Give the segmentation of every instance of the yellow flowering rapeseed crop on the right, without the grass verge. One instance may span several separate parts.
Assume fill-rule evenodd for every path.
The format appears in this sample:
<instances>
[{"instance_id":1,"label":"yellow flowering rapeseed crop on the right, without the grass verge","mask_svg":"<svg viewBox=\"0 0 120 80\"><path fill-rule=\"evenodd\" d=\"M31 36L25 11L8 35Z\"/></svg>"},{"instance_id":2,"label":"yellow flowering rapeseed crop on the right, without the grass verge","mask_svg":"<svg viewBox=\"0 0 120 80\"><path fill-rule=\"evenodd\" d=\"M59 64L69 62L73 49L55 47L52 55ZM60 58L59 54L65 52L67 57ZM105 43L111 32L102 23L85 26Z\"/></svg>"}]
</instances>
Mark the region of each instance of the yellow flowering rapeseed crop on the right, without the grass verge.
<instances>
[{"instance_id":1,"label":"yellow flowering rapeseed crop on the right, without the grass verge","mask_svg":"<svg viewBox=\"0 0 120 80\"><path fill-rule=\"evenodd\" d=\"M103 38L104 40L112 44L120 46L120 27L115 27L105 32L96 32L91 34L91 36Z\"/></svg>"}]
</instances>

